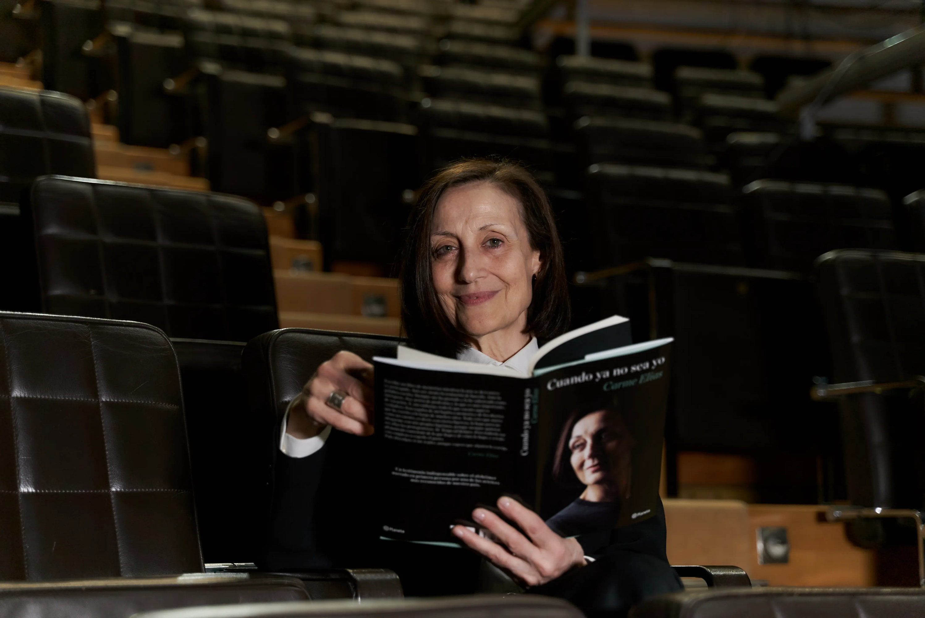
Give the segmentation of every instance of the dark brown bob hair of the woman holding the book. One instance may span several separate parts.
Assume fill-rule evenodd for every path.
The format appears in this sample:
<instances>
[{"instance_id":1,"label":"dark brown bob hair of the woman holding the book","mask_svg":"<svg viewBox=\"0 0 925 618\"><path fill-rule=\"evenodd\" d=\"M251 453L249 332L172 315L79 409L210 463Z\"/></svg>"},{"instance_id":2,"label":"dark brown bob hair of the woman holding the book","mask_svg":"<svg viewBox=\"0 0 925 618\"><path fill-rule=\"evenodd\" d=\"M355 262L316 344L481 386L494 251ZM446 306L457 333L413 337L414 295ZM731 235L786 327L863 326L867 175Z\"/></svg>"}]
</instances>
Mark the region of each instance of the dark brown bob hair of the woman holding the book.
<instances>
[{"instance_id":1,"label":"dark brown bob hair of the woman holding the book","mask_svg":"<svg viewBox=\"0 0 925 618\"><path fill-rule=\"evenodd\" d=\"M413 348L454 356L474 340L450 321L439 302L431 270L430 229L440 197L448 189L487 182L521 204L530 246L539 251L542 266L533 284L524 332L550 340L569 327L568 283L562 247L546 192L524 167L508 161L465 159L441 169L428 180L408 222L408 240L401 255L401 326Z\"/></svg>"}]
</instances>

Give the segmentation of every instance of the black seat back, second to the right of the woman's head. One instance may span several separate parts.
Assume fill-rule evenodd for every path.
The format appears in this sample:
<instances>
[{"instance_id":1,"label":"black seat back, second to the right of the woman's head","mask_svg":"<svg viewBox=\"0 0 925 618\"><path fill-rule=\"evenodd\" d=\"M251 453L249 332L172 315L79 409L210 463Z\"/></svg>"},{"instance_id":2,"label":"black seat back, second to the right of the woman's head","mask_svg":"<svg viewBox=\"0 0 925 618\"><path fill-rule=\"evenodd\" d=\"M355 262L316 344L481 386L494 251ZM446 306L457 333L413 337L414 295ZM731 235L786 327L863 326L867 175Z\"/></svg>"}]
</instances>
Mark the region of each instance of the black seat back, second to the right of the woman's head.
<instances>
[{"instance_id":1,"label":"black seat back, second to the right of the woman's head","mask_svg":"<svg viewBox=\"0 0 925 618\"><path fill-rule=\"evenodd\" d=\"M886 193L831 184L756 180L742 189L760 266L806 272L833 249L895 249Z\"/></svg>"}]
</instances>

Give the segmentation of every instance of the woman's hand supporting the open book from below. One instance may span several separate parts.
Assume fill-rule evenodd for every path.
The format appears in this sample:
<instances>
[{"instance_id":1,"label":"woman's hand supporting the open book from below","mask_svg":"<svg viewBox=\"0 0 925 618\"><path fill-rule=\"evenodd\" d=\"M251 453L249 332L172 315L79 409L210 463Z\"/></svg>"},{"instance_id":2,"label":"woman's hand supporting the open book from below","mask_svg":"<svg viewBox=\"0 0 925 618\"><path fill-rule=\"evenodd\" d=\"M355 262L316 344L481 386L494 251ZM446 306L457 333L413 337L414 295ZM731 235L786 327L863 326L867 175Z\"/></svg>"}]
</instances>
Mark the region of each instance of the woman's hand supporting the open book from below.
<instances>
[{"instance_id":1,"label":"woman's hand supporting the open book from below","mask_svg":"<svg viewBox=\"0 0 925 618\"><path fill-rule=\"evenodd\" d=\"M585 565L584 551L578 541L561 538L524 505L502 496L498 508L529 538L486 509L475 509L472 516L478 525L499 538L503 546L479 537L464 525L454 525L453 534L528 587L546 584L575 566Z\"/></svg>"}]
</instances>

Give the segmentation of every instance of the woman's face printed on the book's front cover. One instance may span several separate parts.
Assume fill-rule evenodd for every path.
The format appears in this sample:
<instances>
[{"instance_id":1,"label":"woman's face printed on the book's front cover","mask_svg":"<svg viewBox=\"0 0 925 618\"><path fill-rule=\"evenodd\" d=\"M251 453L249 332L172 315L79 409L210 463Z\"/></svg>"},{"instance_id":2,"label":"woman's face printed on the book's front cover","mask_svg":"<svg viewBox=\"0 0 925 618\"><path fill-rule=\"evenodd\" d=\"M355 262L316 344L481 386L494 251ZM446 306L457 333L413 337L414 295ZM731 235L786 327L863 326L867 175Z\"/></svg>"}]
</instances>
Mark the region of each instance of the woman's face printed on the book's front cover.
<instances>
[{"instance_id":1,"label":"woman's face printed on the book's front cover","mask_svg":"<svg viewBox=\"0 0 925 618\"><path fill-rule=\"evenodd\" d=\"M585 485L614 482L612 466L619 461L620 439L619 427L605 410L587 414L575 423L569 439L569 451L578 480Z\"/></svg>"}]
</instances>

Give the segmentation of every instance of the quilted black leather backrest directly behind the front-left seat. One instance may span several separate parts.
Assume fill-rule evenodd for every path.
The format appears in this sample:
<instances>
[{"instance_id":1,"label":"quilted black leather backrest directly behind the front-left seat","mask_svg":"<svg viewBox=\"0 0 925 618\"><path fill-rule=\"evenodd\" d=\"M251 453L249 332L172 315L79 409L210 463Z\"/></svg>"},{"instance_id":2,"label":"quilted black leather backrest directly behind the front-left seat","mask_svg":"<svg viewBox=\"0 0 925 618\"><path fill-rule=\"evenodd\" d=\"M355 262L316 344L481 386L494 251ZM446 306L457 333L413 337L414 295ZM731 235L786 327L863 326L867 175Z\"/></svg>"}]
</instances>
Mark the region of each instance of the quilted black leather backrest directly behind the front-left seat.
<instances>
[{"instance_id":1,"label":"quilted black leather backrest directly behind the front-left seat","mask_svg":"<svg viewBox=\"0 0 925 618\"><path fill-rule=\"evenodd\" d=\"M33 185L31 209L45 312L194 339L277 327L265 221L246 200L48 177Z\"/></svg>"}]
</instances>

